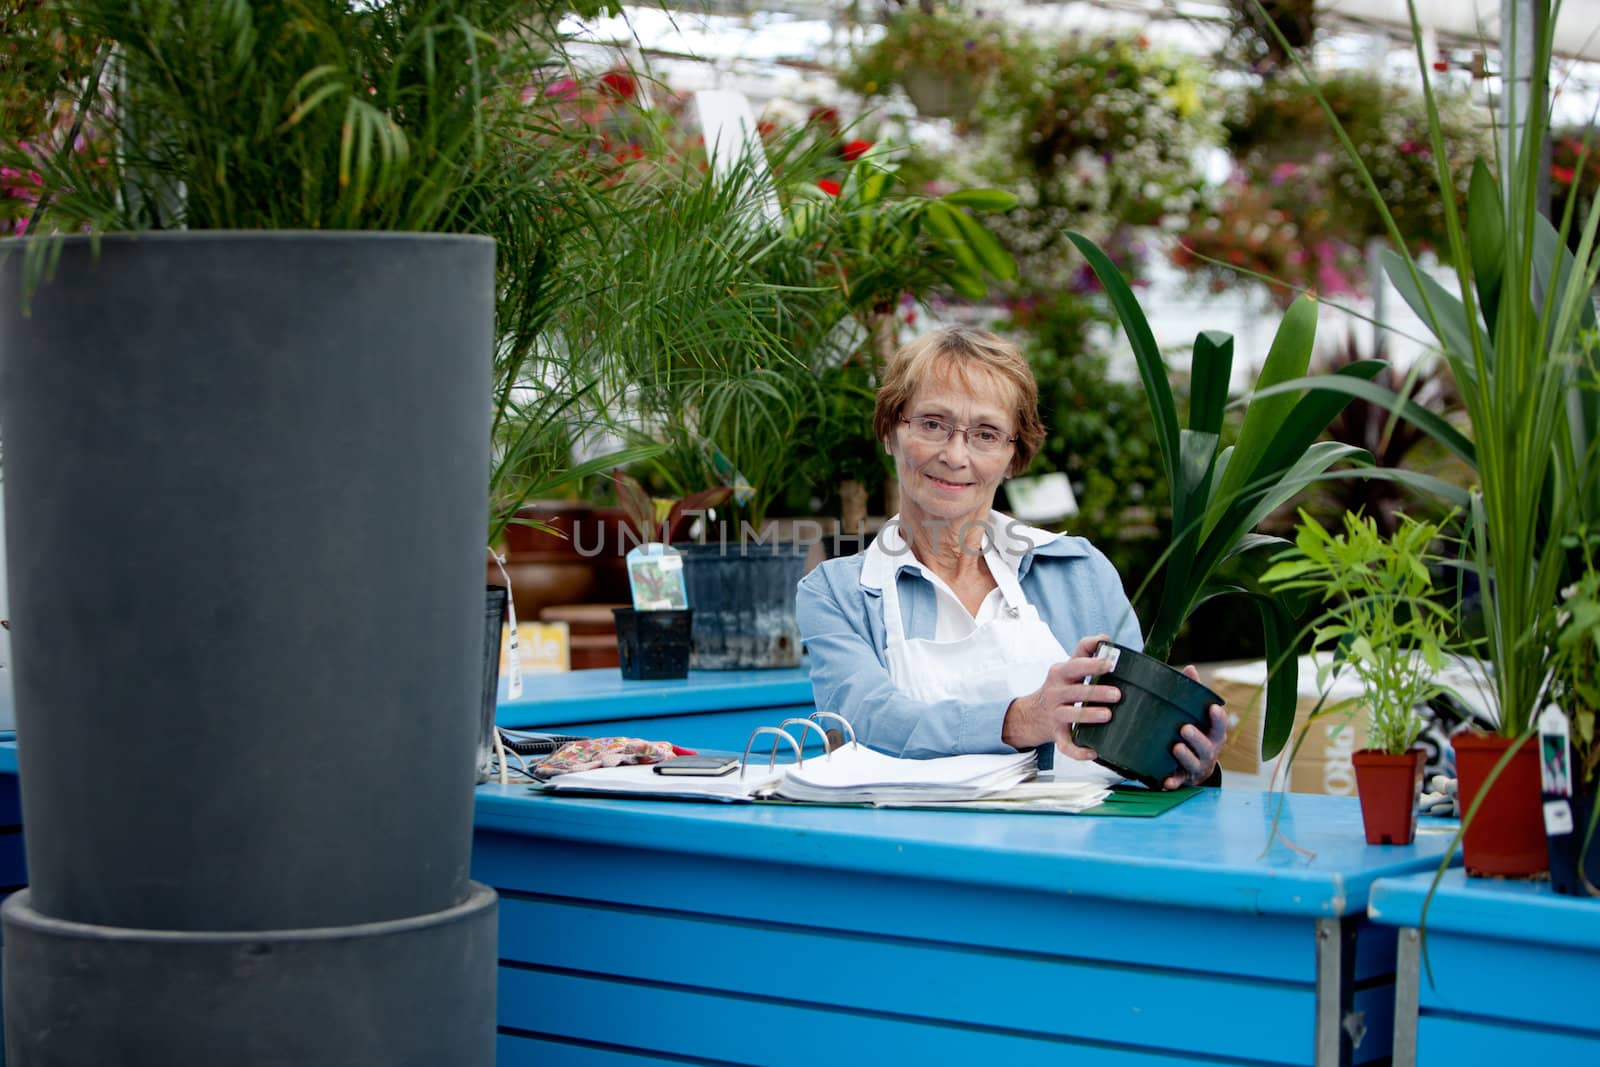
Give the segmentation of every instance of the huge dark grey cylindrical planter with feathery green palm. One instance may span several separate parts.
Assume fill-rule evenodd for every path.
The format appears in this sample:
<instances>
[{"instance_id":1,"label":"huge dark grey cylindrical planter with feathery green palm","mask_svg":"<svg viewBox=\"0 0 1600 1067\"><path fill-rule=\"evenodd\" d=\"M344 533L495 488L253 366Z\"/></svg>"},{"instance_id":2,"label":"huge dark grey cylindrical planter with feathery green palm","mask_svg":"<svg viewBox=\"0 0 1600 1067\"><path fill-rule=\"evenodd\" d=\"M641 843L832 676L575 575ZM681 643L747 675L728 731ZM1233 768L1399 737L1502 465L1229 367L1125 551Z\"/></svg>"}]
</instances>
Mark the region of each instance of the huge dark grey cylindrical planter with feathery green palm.
<instances>
[{"instance_id":1,"label":"huge dark grey cylindrical planter with feathery green palm","mask_svg":"<svg viewBox=\"0 0 1600 1067\"><path fill-rule=\"evenodd\" d=\"M37 158L35 232L90 235L0 264L32 878L3 912L10 1057L486 1062L464 712L507 291L483 234L542 203L509 130L518 10L27 10L94 43L66 83L114 150ZM397 501L421 507L370 533ZM381 777L405 789L374 808ZM352 997L381 1033L331 1009Z\"/></svg>"}]
</instances>

